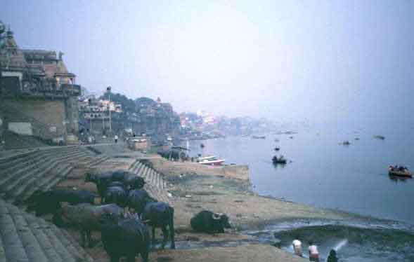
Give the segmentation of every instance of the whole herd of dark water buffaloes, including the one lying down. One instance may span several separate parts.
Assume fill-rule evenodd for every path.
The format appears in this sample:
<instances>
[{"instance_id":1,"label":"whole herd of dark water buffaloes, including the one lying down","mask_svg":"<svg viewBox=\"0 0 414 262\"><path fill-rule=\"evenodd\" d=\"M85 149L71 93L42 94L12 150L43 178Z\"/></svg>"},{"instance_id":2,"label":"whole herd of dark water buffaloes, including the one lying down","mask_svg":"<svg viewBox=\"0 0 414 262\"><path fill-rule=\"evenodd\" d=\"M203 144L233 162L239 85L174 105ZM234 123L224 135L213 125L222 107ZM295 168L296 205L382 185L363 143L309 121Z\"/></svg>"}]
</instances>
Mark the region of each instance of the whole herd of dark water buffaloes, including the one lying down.
<instances>
[{"instance_id":1,"label":"whole herd of dark water buffaloes, including the one lying down","mask_svg":"<svg viewBox=\"0 0 414 262\"><path fill-rule=\"evenodd\" d=\"M111 262L122 256L135 261L141 254L148 261L150 233L155 243L155 228L162 229L162 248L174 242L174 208L158 202L144 189L145 181L136 174L123 170L86 174L85 182L96 184L101 205L95 205L97 195L80 189L36 191L27 200L27 211L37 216L53 214L56 226L70 225L79 229L82 247L91 247L91 231L101 232L103 247ZM202 211L190 220L191 228L202 233L224 233L230 228L228 216ZM168 228L168 229L167 229Z\"/></svg>"}]
</instances>

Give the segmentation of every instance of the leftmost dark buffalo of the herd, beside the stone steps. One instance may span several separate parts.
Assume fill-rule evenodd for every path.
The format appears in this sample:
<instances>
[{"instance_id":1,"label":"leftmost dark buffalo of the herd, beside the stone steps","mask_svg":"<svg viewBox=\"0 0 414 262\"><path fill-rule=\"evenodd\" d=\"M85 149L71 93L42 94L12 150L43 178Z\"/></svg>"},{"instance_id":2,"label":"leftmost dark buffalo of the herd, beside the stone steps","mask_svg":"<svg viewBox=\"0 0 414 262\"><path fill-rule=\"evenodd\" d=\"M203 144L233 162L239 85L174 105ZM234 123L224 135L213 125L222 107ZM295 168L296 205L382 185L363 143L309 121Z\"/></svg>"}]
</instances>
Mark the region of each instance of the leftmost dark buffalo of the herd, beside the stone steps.
<instances>
[{"instance_id":1,"label":"leftmost dark buffalo of the herd, beside the stone steps","mask_svg":"<svg viewBox=\"0 0 414 262\"><path fill-rule=\"evenodd\" d=\"M61 202L68 202L71 205L79 203L93 204L95 195L86 190L54 189L50 191L34 191L27 198L27 212L34 211L37 216L44 214L56 214ZM56 222L56 216L53 221Z\"/></svg>"}]
</instances>

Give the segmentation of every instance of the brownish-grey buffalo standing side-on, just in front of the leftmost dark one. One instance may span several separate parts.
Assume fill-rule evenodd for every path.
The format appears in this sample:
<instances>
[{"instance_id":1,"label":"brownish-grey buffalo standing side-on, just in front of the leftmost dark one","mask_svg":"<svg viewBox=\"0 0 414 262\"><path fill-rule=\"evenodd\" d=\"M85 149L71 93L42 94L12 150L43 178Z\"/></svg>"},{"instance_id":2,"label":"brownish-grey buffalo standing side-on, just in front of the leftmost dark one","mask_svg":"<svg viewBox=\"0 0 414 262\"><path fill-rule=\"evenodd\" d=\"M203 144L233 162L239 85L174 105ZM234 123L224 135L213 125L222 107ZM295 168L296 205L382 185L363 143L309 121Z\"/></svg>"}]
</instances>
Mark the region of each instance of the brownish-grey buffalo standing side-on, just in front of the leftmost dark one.
<instances>
[{"instance_id":1,"label":"brownish-grey buffalo standing side-on, just in front of the leftmost dark one","mask_svg":"<svg viewBox=\"0 0 414 262\"><path fill-rule=\"evenodd\" d=\"M121 215L123 209L116 204L98 205L79 204L63 205L58 212L58 221L70 224L79 229L82 247L85 247L85 239L91 247L91 230L101 230L101 217L103 214Z\"/></svg>"}]
</instances>

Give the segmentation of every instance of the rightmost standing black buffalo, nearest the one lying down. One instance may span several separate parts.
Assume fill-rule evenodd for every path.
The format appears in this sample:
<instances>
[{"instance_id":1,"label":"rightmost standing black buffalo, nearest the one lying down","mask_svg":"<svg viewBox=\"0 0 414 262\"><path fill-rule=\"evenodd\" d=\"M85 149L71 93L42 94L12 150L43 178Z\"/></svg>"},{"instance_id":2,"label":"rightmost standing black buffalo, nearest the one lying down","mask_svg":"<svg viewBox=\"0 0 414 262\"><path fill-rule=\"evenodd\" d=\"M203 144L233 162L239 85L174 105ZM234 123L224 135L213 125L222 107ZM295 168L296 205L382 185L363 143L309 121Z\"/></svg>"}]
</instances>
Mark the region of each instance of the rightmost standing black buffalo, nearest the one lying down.
<instances>
[{"instance_id":1,"label":"rightmost standing black buffalo, nearest the one lying down","mask_svg":"<svg viewBox=\"0 0 414 262\"><path fill-rule=\"evenodd\" d=\"M173 207L170 207L167 203L164 202L150 202L145 205L141 216L142 221L144 223L148 223L148 225L150 225L153 230L153 244L155 244L155 228L161 228L162 235L164 237L162 240L162 248L165 247L165 244L168 240L168 226L169 235L171 237L171 248L175 249Z\"/></svg>"}]
</instances>

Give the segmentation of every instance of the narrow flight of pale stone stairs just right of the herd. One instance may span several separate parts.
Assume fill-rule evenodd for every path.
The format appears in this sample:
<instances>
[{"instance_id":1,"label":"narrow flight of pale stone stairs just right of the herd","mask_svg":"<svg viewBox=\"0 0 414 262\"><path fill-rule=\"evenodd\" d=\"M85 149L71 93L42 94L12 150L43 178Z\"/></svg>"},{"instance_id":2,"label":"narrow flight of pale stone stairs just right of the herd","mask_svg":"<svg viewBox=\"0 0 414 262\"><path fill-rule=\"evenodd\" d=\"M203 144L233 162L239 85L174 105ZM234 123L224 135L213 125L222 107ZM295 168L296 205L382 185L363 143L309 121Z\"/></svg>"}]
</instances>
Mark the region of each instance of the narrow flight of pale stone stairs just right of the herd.
<instances>
[{"instance_id":1,"label":"narrow flight of pale stone stairs just right of the herd","mask_svg":"<svg viewBox=\"0 0 414 262\"><path fill-rule=\"evenodd\" d=\"M162 178L162 175L150 167L143 165L139 160L134 161L129 167L129 172L137 174L145 180L144 189L148 193L162 202L170 202L167 188L169 185L167 181Z\"/></svg>"}]
</instances>

